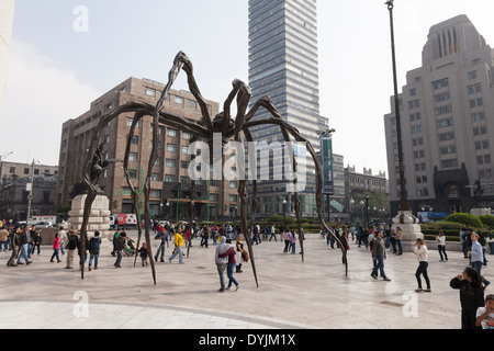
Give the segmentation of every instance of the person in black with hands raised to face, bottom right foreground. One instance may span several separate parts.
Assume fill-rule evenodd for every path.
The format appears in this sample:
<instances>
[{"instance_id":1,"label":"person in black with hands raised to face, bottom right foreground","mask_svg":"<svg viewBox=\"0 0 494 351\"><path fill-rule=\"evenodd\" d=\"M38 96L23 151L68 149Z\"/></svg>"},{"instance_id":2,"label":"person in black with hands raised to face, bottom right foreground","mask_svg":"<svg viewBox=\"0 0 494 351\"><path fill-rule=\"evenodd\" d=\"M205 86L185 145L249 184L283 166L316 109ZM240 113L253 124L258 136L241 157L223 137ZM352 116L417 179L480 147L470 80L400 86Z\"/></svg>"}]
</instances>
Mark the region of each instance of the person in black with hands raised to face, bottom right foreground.
<instances>
[{"instance_id":1,"label":"person in black with hands raised to face, bottom right foreground","mask_svg":"<svg viewBox=\"0 0 494 351\"><path fill-rule=\"evenodd\" d=\"M482 276L473 267L467 267L462 274L458 274L449 282L449 285L460 291L461 329L479 329L475 326L476 312L485 304Z\"/></svg>"}]
</instances>

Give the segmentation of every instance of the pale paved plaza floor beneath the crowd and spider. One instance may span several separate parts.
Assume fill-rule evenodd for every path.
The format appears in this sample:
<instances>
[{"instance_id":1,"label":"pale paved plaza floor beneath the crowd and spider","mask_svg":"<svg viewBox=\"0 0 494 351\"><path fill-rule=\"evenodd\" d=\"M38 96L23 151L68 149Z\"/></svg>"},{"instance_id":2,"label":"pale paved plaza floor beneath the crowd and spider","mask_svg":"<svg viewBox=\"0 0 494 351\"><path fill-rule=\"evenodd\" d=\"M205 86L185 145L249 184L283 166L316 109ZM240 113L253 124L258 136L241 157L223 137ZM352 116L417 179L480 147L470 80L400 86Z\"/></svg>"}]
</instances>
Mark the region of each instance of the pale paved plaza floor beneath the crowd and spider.
<instances>
[{"instance_id":1,"label":"pale paved plaza floor beneath the crowd and spider","mask_svg":"<svg viewBox=\"0 0 494 351\"><path fill-rule=\"evenodd\" d=\"M136 231L130 233L131 237ZM211 241L211 240L210 240ZM390 282L370 276L371 254L351 242L349 273L341 253L318 235L304 242L305 261L284 253L283 244L255 245L259 279L256 286L250 262L235 278L238 291L218 293L215 246L194 240L190 257L157 263L157 284L150 268L134 268L125 257L121 269L106 242L99 269L66 270L50 263L53 250L42 247L30 265L7 268L10 252L0 252L0 329L459 329L459 292L449 281L468 265L461 252L448 252L439 262L429 247L431 293L415 293L415 254L388 252ZM493 256L487 256L487 259ZM78 259L78 258L77 258ZM492 281L494 260L483 269ZM491 293L492 286L486 293Z\"/></svg>"}]
</instances>

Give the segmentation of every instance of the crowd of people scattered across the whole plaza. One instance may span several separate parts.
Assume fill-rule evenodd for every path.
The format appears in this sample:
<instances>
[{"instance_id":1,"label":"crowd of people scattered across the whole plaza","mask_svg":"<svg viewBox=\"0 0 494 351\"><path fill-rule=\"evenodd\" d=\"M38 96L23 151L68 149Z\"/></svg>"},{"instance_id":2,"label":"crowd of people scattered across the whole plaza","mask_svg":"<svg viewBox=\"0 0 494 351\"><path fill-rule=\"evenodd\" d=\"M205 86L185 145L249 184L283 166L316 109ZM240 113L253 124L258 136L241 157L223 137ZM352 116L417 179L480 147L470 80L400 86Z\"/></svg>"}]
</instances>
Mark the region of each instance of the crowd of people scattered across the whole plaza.
<instances>
[{"instance_id":1,"label":"crowd of people scattered across the whole plaza","mask_svg":"<svg viewBox=\"0 0 494 351\"><path fill-rule=\"evenodd\" d=\"M192 225L187 223L161 224L154 223L151 226L154 237L154 259L156 262L171 263L177 257L180 264L183 264L183 247L192 246L195 238L201 239L200 246L209 248L211 240L216 247L214 263L220 276L220 293L228 291L235 285L235 291L239 288L239 283L234 273L242 273L242 265L249 261L249 253L244 247L245 237L242 235L242 228L232 226L231 223L216 225ZM390 225L363 227L360 224L352 226L334 226L334 235L322 228L321 237L326 240L332 249L339 245L350 249L352 241L357 248L364 248L371 252L372 270L370 275L378 280L390 282L391 279L385 273L384 262L388 253L396 256L403 254L403 231L400 227L393 228ZM259 245L263 240L271 241L280 235L280 241L284 242L283 253L295 253L296 251L296 230L289 227L277 229L273 225L265 226L262 229L255 225L251 233L251 245ZM491 230L486 234L475 233L473 229L463 228L460 233L460 242L464 259L468 259L468 267L461 274L453 278L450 282L451 288L460 291L460 303L462 307L461 322L462 328L493 328L494 322L494 296L492 294L484 296L485 288L490 281L483 276L482 268L487 264L485 257L486 239L493 239L494 234ZM0 251L11 251L7 262L8 267L18 267L21 264L33 263L33 256L41 254L43 237L40 235L36 226L3 226L0 229ZM76 252L79 258L78 265L81 267L89 258L89 271L98 269L99 256L101 251L101 236L96 231L91 238L86 238L83 250L80 235L77 230L65 230L63 227L56 233L53 239L49 262L61 262L61 256L66 256L65 269L75 268ZM441 262L448 262L447 241L442 231L436 236L437 251ZM166 259L165 251L172 246L172 251ZM126 229L115 230L112 239L111 254L115 257L113 265L121 268L124 256L137 254L142 259L142 265L148 265L149 252L146 242L139 248L135 247L135 241L131 239ZM417 281L416 293L431 293L431 282L428 274L429 250L423 239L417 239L412 247L412 252L417 257L418 265L415 272ZM301 252L302 253L302 252ZM224 274L228 281L225 281ZM425 281L425 286L423 285Z\"/></svg>"}]
</instances>

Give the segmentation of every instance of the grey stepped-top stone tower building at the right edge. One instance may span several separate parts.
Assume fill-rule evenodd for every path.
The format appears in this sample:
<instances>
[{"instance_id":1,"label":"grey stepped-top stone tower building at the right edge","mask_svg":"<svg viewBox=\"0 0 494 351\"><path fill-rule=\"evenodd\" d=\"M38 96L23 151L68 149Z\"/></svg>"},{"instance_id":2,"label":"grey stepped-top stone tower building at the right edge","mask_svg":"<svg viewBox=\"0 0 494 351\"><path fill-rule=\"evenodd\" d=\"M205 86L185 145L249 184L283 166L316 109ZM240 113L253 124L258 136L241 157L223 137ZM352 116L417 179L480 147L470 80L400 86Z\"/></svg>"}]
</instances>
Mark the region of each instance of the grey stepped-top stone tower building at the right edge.
<instances>
[{"instance_id":1,"label":"grey stepped-top stone tower building at the right edge","mask_svg":"<svg viewBox=\"0 0 494 351\"><path fill-rule=\"evenodd\" d=\"M434 25L423 66L407 72L400 95L407 199L414 213L469 212L472 184L494 201L494 52L467 15ZM384 117L390 197L396 213L400 177L396 118ZM403 184L402 184L403 185Z\"/></svg>"}]
</instances>

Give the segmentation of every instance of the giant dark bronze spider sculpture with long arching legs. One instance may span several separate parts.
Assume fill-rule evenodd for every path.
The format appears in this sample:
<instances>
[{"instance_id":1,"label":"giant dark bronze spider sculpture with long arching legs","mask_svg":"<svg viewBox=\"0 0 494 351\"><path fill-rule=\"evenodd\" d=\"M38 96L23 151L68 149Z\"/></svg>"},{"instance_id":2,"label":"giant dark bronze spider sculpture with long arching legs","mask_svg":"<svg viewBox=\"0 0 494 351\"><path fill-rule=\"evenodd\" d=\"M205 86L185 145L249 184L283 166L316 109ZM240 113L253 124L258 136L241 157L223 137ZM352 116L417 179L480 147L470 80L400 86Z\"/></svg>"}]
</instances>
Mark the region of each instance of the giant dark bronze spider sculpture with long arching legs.
<instances>
[{"instance_id":1,"label":"giant dark bronze spider sculpture with long arching legs","mask_svg":"<svg viewBox=\"0 0 494 351\"><path fill-rule=\"evenodd\" d=\"M189 120L186 120L183 117L180 117L180 116L177 116L177 115L173 115L170 113L167 113L164 110L164 103L167 98L167 94L168 94L171 86L173 84L176 78L178 77L178 75L180 73L180 71L182 69L187 73L188 86L189 86L190 92L194 95L194 98L201 109L202 118L198 123L191 122ZM236 114L235 120L233 120L232 113L231 113L231 106L232 106L232 103L235 98L236 98L236 103L237 103L237 114ZM216 115L214 118L212 118L212 116L210 115L210 112L207 110L207 105L206 105L203 97L201 95L201 92L195 82L195 78L193 76L192 63L190 61L190 59L187 57L186 54L180 52L173 60L173 66L168 75L168 83L165 86L165 88L161 92L161 97L160 97L159 101L157 102L156 106L153 106L150 104L143 103L143 102L130 102L125 105L122 105L122 106L115 109L111 114L102 116L96 132L93 133L92 143L91 143L88 158L85 163L86 166L83 169L83 183L88 191L88 196L87 196L86 204L85 204L83 222L82 222L82 226L81 226L81 230L80 230L82 246L85 242L83 238L86 238L86 236L87 236L87 225L88 225L88 220L89 220L91 205L98 194L98 188L99 188L97 184L94 184L91 181L91 168L93 166L91 160L93 158L93 155L97 152L97 147L99 146L99 140L101 138L102 128L110 121L117 117L120 114L134 113L133 124L131 126L130 135L127 138L127 145L126 145L126 150L125 150L125 159L124 159L123 168L124 168L126 181L131 188L134 208L136 212L138 211L137 208L139 207L138 206L138 193L135 190L135 186L132 184L131 178L128 177L128 169L127 169L128 156L130 156L130 150L131 150L131 140L133 138L134 129L135 129L137 123L144 116L153 116L153 149L151 149L151 154L150 154L149 161L148 161L147 174L146 174L146 178L144 181L144 191L143 191L143 194L144 194L143 208L144 208L144 217L145 217L145 222L144 222L145 223L145 239L147 242L147 248L149 250L149 252L148 252L149 257L153 257L153 253L151 253L153 246L150 245L150 236L149 236L150 230L149 230L149 211L148 211L148 208L149 208L149 192L150 192L150 174L151 174L153 166L155 165L156 159L157 159L158 124L168 125L171 127L179 128L183 132L188 132L193 136L191 141L197 140L198 138L203 138L204 140L206 140L206 143L209 145L213 144L214 135L217 135L217 133L221 133L221 135L222 135L222 144L223 145L225 145L228 140L243 143L244 141L243 138L245 138L245 140L247 140L247 141L254 141L252 135L250 134L249 128L259 126L259 125L278 125L281 128L281 133L282 133L285 141L290 141L291 137L292 137L297 143L306 144L306 148L314 160L314 163L316 167L316 174L318 178L317 190L316 190L316 205L317 205L318 217L319 217L324 228L326 229L326 231L329 235L332 235L335 238L335 240L339 244L339 247L343 251L343 262L345 263L345 267L346 267L346 274L348 274L347 247L341 244L341 241L339 240L339 237L337 237L335 235L335 233L326 225L326 223L323 219L323 215L322 215L323 176L322 176L322 168L321 168L319 161L316 157L316 154L314 151L314 148L312 147L311 143L308 140L306 140L299 133L299 131L296 128L294 128L293 126L291 126L290 124L288 124L285 121L282 120L281 115L277 111L274 104L272 103L272 101L269 97L261 98L259 101L257 101L254 104L254 106L249 111L247 111L249 102L250 102L250 98L251 98L251 92L250 92L249 87L240 80L234 80L233 81L233 90L224 103L223 112L220 113L218 115ZM255 116L256 112L260 107L265 107L270 113L271 117L258 118L258 120L252 118ZM287 144L290 144L290 143L287 143ZM212 155L211 155L211 157L212 157ZM243 167L243 165L238 165L238 166ZM292 168L293 168L293 173L296 174L296 162L295 162L294 158L292 158ZM249 231L249 226L247 224L248 219L247 219L246 182L247 181L244 179L238 180L240 228L242 228L242 233L245 236L245 239L246 239L245 241L248 246L248 251L249 251L254 276L256 280L256 285L259 286L258 279L257 279L257 272L256 272L255 257L254 257L251 241L250 241L250 231ZM252 182L254 182L254 184L252 184L254 185L252 186L254 194L252 194L252 199L251 199L251 225L250 225L250 228L254 227L255 213L257 210L257 200L256 200L257 199L257 182L256 182L256 180L254 180ZM296 191L296 183L297 183L296 177L293 179L293 183L295 185L294 186L294 189L295 189L295 191L294 191L294 210L295 210L296 222L297 222L297 227L299 227L299 240L300 240L300 246L301 246L301 251L302 251L302 261L304 261L304 254L303 254L303 252L304 252L304 250L303 250L304 234L303 234L303 230L301 227L301 220L300 220L301 201L299 197L299 193ZM193 223L193 220L194 220L194 212L193 212L194 196L195 196L195 181L192 181L191 199L190 199L191 200L191 202L190 202L190 223ZM137 246L139 246L141 238L142 238L142 229L141 229L141 226L138 226ZM189 240L189 249L190 249L190 240ZM82 250L83 250L83 247L82 247ZM154 283L156 284L156 270L155 270L154 260L150 260L150 267L151 267ZM85 268L82 265L81 267L81 278L82 279L83 279L83 272L85 272Z\"/></svg>"}]
</instances>

